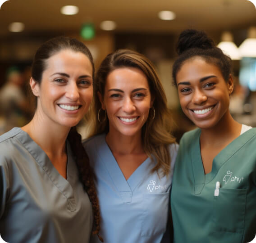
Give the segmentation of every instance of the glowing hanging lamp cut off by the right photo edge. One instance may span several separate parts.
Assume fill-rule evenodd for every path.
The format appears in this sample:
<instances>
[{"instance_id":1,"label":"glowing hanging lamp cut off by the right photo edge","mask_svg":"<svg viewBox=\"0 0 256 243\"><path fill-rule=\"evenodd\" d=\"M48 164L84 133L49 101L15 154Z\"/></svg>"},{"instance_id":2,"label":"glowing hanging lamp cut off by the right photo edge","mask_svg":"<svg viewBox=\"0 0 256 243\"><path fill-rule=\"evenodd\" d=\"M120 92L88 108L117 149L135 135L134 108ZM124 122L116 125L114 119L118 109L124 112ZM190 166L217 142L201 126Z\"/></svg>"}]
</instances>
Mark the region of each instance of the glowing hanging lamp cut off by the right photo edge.
<instances>
[{"instance_id":1,"label":"glowing hanging lamp cut off by the right photo edge","mask_svg":"<svg viewBox=\"0 0 256 243\"><path fill-rule=\"evenodd\" d=\"M242 57L256 57L256 27L248 30L248 38L239 46Z\"/></svg>"}]
</instances>

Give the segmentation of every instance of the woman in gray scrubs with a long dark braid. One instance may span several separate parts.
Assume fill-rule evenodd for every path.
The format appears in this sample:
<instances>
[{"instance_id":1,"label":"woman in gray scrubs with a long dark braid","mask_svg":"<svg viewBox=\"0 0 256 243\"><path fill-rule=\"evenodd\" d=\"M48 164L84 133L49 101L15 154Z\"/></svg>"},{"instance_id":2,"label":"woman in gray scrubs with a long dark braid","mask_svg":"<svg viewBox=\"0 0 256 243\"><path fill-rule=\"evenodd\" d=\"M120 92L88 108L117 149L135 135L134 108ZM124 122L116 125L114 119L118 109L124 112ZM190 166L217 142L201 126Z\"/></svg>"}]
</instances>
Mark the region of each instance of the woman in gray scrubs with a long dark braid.
<instances>
[{"instance_id":1,"label":"woman in gray scrubs with a long dark braid","mask_svg":"<svg viewBox=\"0 0 256 243\"><path fill-rule=\"evenodd\" d=\"M75 129L90 106L93 78L91 53L80 41L56 37L37 50L30 79L35 115L0 136L5 241L86 243L93 221L99 232L91 168Z\"/></svg>"}]
</instances>

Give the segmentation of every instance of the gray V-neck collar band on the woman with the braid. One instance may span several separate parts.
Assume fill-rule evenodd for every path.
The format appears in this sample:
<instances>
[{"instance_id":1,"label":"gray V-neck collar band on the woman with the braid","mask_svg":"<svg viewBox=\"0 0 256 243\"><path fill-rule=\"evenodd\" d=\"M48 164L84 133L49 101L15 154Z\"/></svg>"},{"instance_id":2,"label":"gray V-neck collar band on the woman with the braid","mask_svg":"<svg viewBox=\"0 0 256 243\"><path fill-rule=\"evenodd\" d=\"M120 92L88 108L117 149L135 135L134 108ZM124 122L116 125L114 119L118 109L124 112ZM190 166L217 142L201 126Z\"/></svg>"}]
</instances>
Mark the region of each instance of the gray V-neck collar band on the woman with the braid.
<instances>
[{"instance_id":1,"label":"gray V-neck collar band on the woman with the braid","mask_svg":"<svg viewBox=\"0 0 256 243\"><path fill-rule=\"evenodd\" d=\"M60 193L64 195L64 197L68 201L68 209L70 211L76 210L76 202L72 189L72 182L75 180L76 169L74 169L74 163L72 158L72 151L69 143L66 143L67 146L67 180L62 177L59 172L55 169L54 165L50 161L47 154L42 150L42 148L34 141L32 138L21 128L15 127L12 129L16 133L17 139L23 144L23 146L27 149L27 151L34 157L37 164L41 166L43 171L46 173L48 178L52 181L52 183L59 189ZM69 184L69 181L71 184Z\"/></svg>"}]
</instances>

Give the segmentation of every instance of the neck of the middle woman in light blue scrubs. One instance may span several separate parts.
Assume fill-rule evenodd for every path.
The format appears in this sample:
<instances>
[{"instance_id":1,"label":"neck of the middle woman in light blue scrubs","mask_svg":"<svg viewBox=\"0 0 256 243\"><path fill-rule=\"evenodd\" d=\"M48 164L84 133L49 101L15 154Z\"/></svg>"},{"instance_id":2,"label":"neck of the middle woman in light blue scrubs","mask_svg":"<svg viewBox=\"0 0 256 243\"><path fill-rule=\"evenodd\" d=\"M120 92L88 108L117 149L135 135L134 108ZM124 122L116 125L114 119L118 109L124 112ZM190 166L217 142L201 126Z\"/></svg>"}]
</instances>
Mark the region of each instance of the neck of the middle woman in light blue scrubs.
<instances>
[{"instance_id":1,"label":"neck of the middle woman in light blue scrubs","mask_svg":"<svg viewBox=\"0 0 256 243\"><path fill-rule=\"evenodd\" d=\"M117 134L110 130L110 132L106 135L106 142L109 145L112 153L145 153L142 147L141 132L133 136L126 136Z\"/></svg>"}]
</instances>

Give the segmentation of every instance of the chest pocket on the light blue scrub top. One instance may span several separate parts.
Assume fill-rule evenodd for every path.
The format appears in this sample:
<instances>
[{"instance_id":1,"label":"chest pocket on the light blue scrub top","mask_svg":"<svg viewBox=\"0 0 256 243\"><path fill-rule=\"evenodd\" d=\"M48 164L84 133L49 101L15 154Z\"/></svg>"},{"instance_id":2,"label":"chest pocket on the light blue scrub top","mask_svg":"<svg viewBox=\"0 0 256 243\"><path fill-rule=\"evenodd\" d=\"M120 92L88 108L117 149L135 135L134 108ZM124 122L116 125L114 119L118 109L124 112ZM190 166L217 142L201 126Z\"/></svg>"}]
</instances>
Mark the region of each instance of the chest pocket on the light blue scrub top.
<instances>
[{"instance_id":1,"label":"chest pocket on the light blue scrub top","mask_svg":"<svg viewBox=\"0 0 256 243\"><path fill-rule=\"evenodd\" d=\"M142 236L165 232L169 214L169 192L143 195Z\"/></svg>"}]
</instances>

